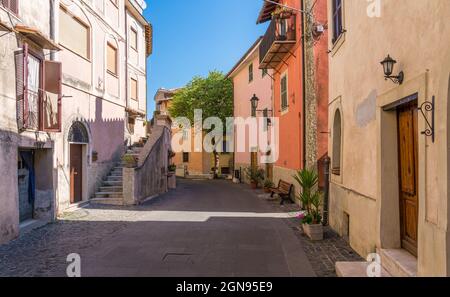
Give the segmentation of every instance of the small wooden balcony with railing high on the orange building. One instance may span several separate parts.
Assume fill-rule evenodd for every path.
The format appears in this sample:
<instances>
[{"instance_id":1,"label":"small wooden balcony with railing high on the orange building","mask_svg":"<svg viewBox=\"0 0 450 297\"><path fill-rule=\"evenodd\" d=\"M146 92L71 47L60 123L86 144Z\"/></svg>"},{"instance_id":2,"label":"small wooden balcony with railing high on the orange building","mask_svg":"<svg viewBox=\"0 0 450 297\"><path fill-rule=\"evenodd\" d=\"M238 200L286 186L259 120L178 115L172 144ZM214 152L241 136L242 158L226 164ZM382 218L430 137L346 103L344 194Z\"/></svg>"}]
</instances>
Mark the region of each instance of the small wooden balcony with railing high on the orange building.
<instances>
[{"instance_id":1,"label":"small wooden balcony with railing high on the orange building","mask_svg":"<svg viewBox=\"0 0 450 297\"><path fill-rule=\"evenodd\" d=\"M259 47L259 68L277 68L296 42L296 15L272 20Z\"/></svg>"}]
</instances>

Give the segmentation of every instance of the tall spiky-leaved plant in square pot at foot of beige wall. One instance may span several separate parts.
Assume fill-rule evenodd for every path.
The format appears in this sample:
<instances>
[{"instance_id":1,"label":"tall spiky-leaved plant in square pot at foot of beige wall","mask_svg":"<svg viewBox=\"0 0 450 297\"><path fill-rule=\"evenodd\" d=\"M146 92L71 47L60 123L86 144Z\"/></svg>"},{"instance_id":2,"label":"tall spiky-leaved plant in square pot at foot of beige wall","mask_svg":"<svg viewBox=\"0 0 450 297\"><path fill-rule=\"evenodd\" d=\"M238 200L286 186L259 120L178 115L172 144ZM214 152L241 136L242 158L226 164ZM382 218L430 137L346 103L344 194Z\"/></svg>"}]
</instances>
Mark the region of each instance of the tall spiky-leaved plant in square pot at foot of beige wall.
<instances>
[{"instance_id":1,"label":"tall spiky-leaved plant in square pot at foot of beige wall","mask_svg":"<svg viewBox=\"0 0 450 297\"><path fill-rule=\"evenodd\" d=\"M313 241L323 240L322 193L317 189L319 175L315 170L303 169L294 178L302 189L299 199L304 210L300 217L303 231Z\"/></svg>"}]
</instances>

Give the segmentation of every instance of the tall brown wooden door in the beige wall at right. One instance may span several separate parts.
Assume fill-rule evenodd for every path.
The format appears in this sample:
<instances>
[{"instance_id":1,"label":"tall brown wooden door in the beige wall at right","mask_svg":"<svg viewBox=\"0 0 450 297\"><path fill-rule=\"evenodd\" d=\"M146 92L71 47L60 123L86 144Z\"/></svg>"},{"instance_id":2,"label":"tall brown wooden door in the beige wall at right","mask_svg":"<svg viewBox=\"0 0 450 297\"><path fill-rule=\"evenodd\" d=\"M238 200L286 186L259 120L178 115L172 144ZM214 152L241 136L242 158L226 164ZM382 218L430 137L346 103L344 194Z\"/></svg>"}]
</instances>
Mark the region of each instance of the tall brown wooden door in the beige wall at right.
<instances>
[{"instance_id":1,"label":"tall brown wooden door in the beige wall at right","mask_svg":"<svg viewBox=\"0 0 450 297\"><path fill-rule=\"evenodd\" d=\"M418 125L417 104L398 110L400 224L402 248L417 256Z\"/></svg>"}]
</instances>

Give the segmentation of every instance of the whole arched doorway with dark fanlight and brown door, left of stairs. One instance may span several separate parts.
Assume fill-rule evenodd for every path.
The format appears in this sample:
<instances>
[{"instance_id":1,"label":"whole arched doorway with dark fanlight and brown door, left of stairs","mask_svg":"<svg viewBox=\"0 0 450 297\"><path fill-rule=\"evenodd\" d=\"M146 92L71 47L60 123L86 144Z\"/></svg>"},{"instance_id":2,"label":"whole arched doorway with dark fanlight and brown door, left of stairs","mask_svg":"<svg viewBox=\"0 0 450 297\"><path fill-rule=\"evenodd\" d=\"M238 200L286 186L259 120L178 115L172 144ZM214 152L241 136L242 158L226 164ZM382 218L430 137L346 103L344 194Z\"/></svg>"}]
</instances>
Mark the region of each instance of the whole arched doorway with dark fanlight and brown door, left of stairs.
<instances>
[{"instance_id":1,"label":"whole arched doorway with dark fanlight and brown door, left of stairs","mask_svg":"<svg viewBox=\"0 0 450 297\"><path fill-rule=\"evenodd\" d=\"M83 201L83 179L89 133L81 122L74 122L68 136L70 154L70 203Z\"/></svg>"}]
</instances>

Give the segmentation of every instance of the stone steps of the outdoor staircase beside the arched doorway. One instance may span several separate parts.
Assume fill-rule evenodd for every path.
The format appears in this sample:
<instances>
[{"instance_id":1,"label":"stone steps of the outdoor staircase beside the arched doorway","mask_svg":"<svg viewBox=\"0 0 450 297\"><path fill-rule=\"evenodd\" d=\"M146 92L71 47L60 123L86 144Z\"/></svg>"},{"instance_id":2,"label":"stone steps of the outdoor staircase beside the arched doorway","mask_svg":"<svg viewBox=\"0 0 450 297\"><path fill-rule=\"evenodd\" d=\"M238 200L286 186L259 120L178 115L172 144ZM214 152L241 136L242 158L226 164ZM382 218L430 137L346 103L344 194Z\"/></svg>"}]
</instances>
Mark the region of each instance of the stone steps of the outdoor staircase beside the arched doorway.
<instances>
[{"instance_id":1,"label":"stone steps of the outdoor staircase beside the arched doorway","mask_svg":"<svg viewBox=\"0 0 450 297\"><path fill-rule=\"evenodd\" d=\"M139 160L139 155L148 138L142 138L140 143L135 143L128 147L124 155L133 156ZM125 164L123 161L117 163L110 171L108 176L103 180L95 196L90 200L93 205L125 205L123 199L123 168Z\"/></svg>"}]
</instances>

